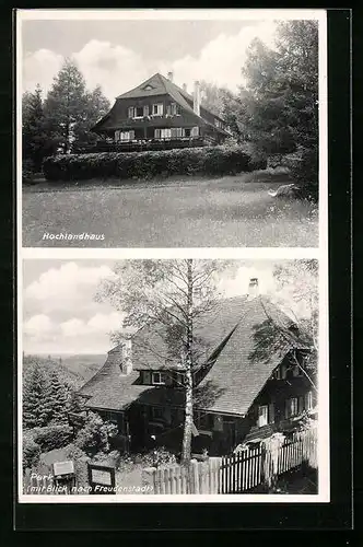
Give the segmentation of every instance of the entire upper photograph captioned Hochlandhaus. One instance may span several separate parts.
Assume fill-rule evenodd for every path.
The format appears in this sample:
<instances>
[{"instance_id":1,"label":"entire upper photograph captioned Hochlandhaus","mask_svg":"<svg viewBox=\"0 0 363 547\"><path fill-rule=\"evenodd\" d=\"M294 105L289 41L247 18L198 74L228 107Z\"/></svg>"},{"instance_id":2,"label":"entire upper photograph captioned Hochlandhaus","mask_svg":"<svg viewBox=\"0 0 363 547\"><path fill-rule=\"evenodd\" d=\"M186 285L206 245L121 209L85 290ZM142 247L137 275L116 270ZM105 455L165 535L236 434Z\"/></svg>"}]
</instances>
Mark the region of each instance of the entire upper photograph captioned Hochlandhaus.
<instances>
[{"instance_id":1,"label":"entire upper photograph captioned Hochlandhaus","mask_svg":"<svg viewBox=\"0 0 363 547\"><path fill-rule=\"evenodd\" d=\"M17 11L24 247L318 247L325 12L222 11Z\"/></svg>"}]
</instances>

